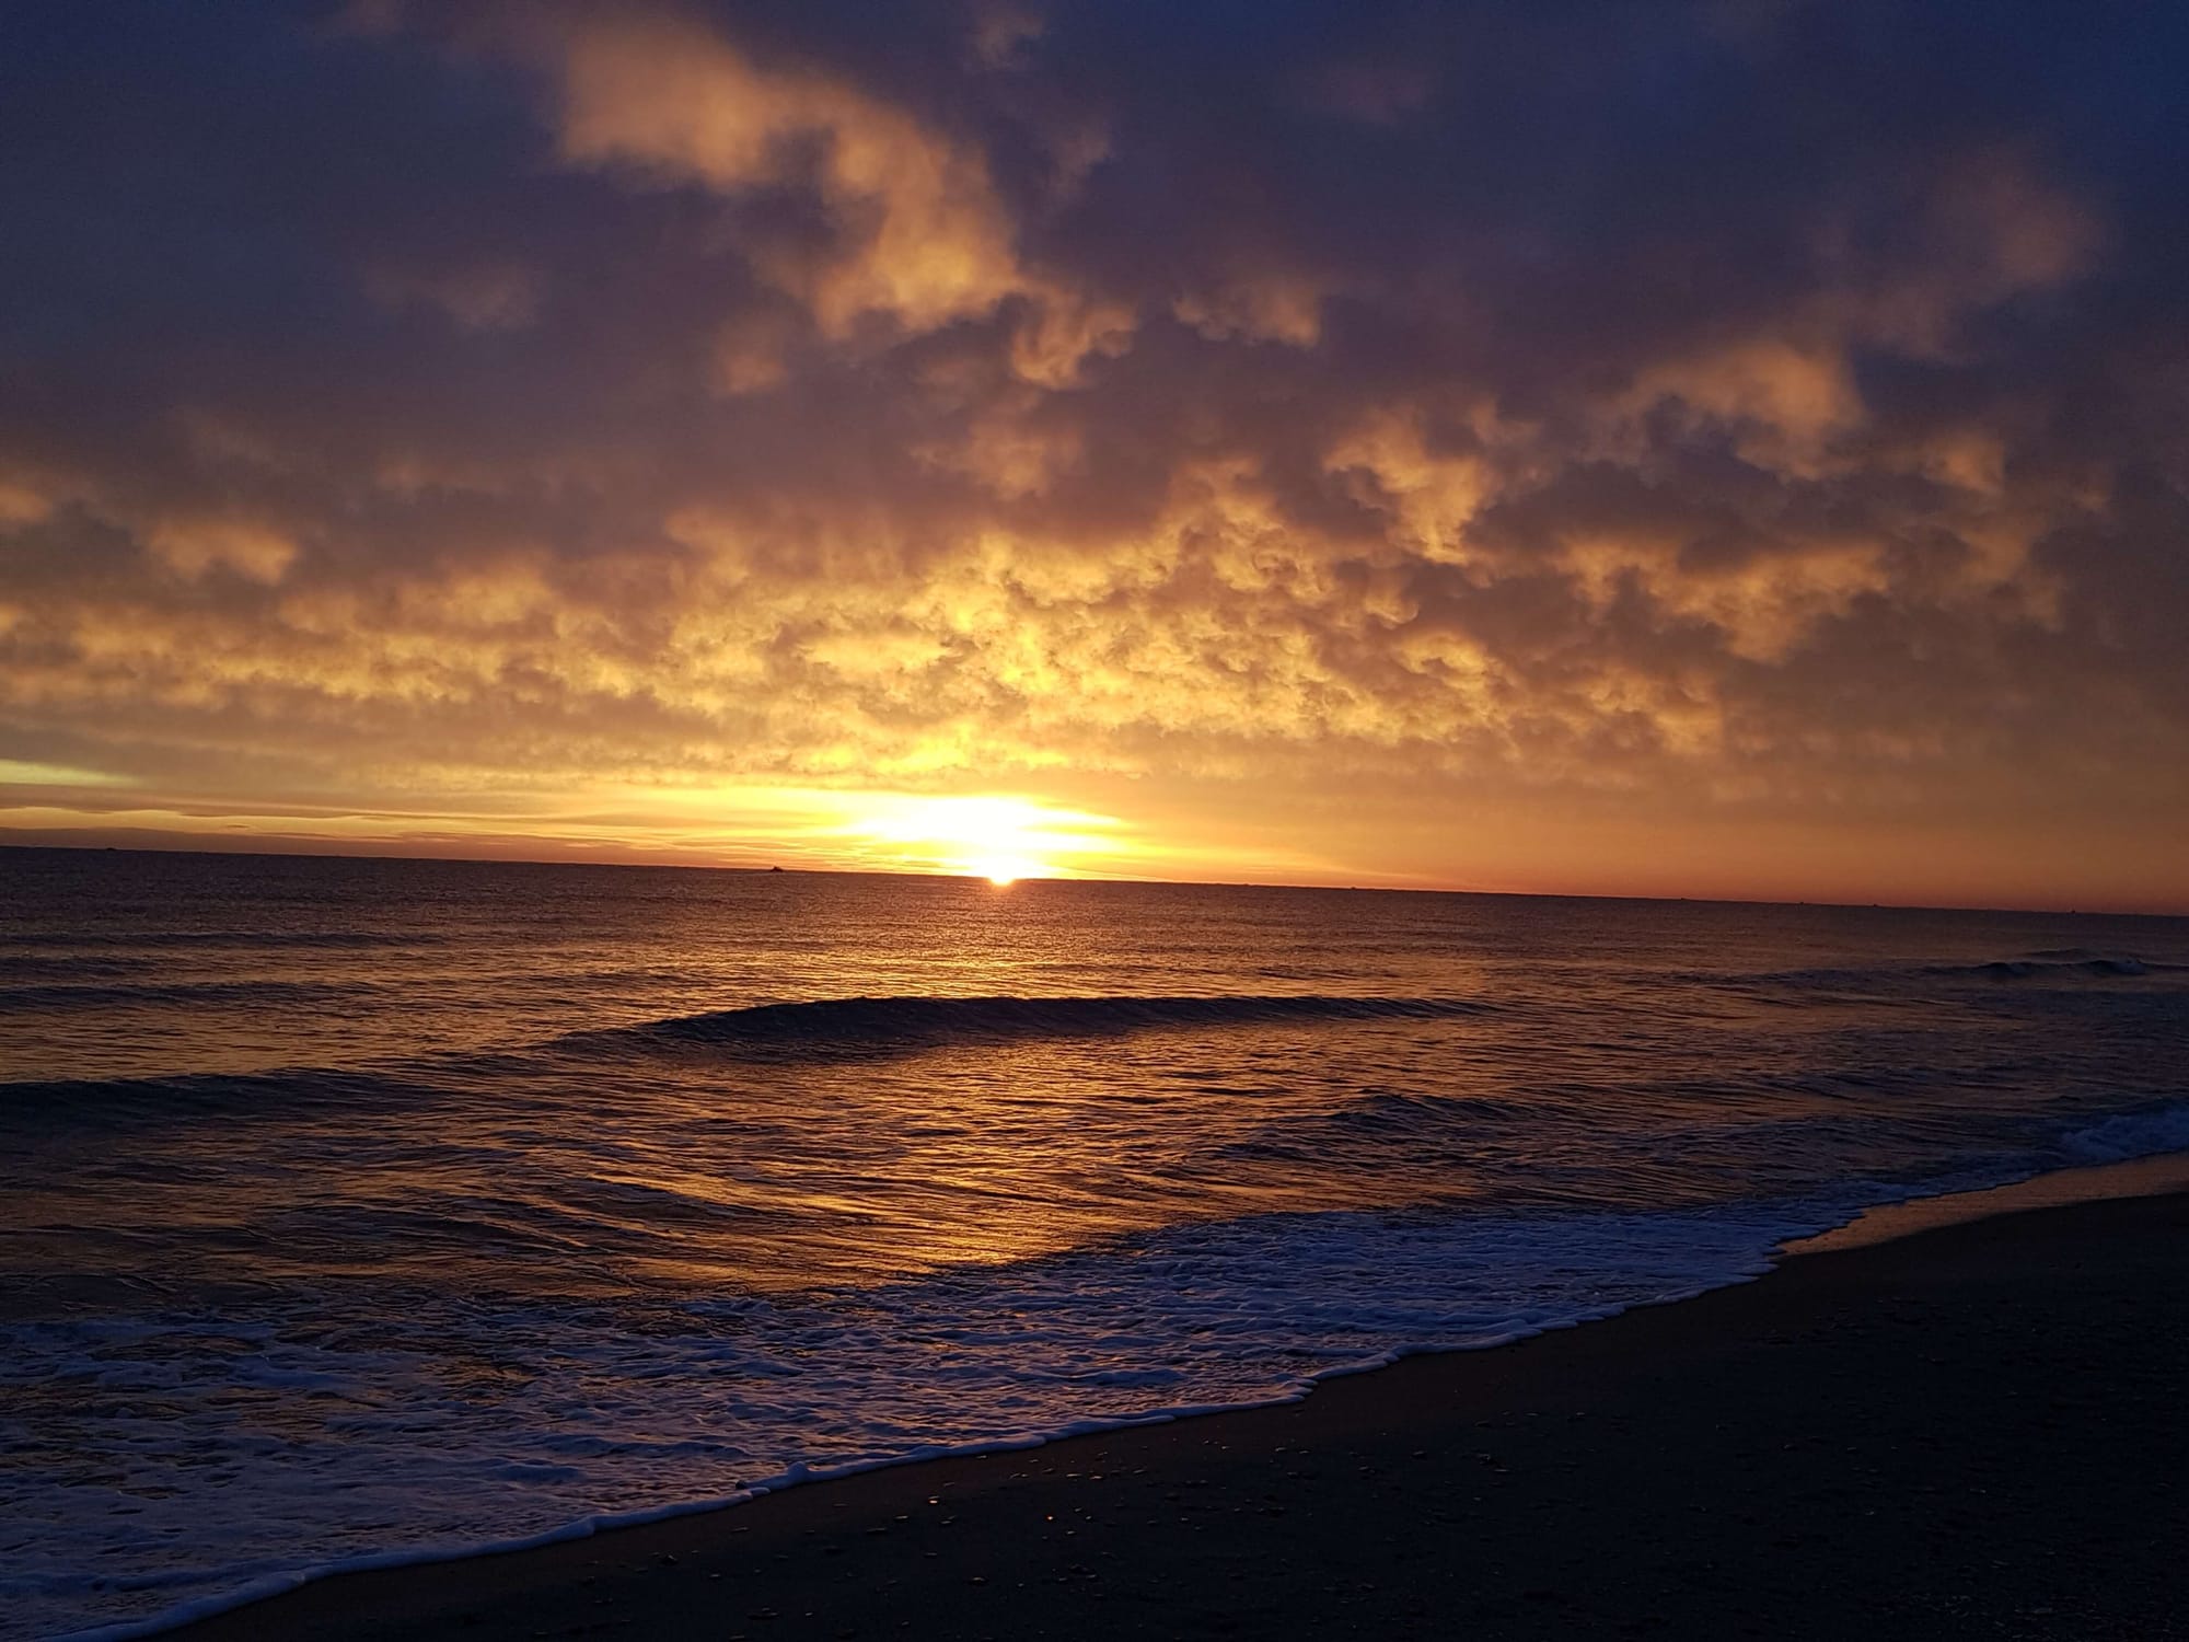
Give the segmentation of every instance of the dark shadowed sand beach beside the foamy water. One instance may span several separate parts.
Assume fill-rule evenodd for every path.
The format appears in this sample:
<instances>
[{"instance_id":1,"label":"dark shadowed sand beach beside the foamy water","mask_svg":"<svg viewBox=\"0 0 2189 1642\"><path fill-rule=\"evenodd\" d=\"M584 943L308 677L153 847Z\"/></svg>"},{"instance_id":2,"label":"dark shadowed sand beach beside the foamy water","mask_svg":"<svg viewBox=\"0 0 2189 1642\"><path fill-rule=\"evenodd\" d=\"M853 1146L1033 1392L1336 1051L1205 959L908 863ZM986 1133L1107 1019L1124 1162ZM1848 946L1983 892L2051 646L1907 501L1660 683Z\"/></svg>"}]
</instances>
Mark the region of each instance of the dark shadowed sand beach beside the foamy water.
<instances>
[{"instance_id":1,"label":"dark shadowed sand beach beside the foamy water","mask_svg":"<svg viewBox=\"0 0 2189 1642\"><path fill-rule=\"evenodd\" d=\"M2189 1638L2189 1198L1305 1403L352 1574L221 1638Z\"/></svg>"}]
</instances>

